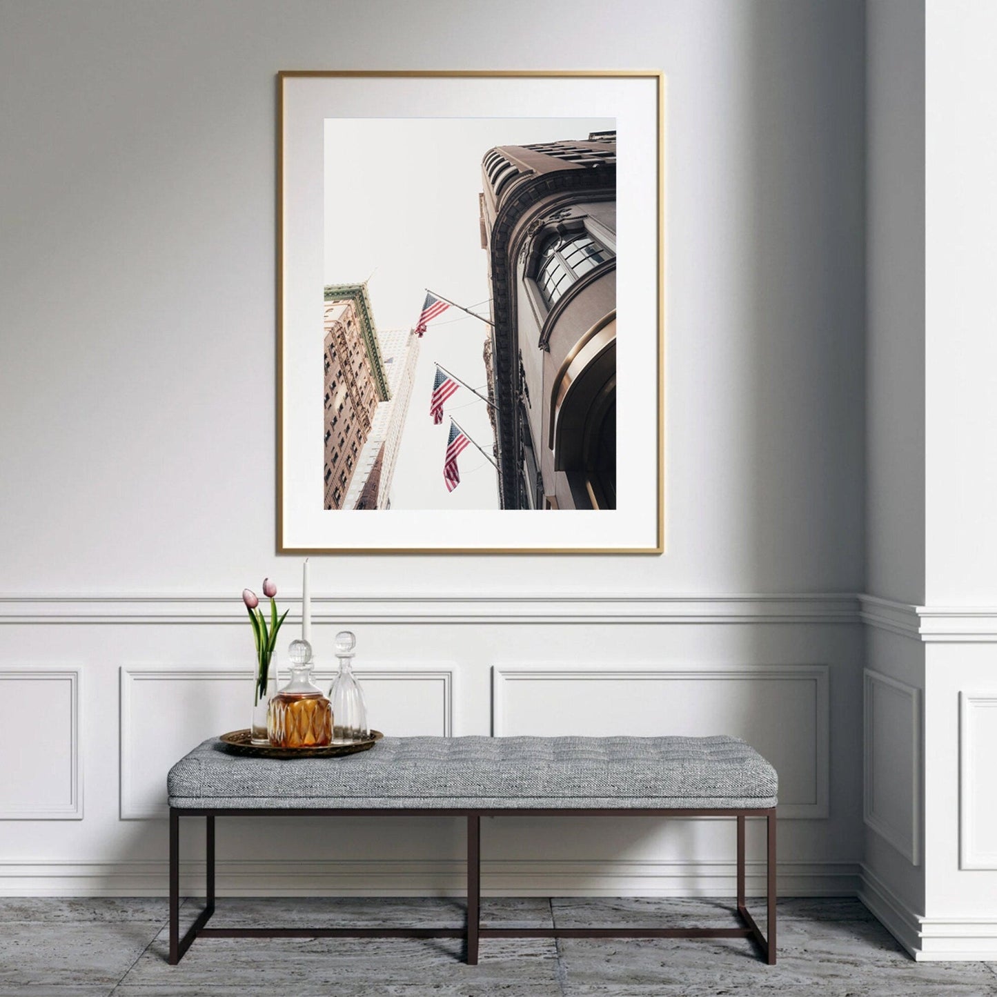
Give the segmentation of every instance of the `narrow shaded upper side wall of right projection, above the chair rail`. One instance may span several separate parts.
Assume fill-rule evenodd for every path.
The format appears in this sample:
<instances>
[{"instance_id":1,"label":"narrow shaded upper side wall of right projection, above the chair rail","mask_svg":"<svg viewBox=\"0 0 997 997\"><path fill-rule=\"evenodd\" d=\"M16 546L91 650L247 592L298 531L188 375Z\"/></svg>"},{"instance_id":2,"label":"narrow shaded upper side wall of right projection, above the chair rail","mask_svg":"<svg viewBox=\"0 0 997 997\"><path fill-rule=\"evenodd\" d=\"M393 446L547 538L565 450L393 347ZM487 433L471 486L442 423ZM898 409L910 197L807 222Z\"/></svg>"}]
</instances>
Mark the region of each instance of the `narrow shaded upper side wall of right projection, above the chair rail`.
<instances>
[{"instance_id":1,"label":"narrow shaded upper side wall of right projection, above the chair rail","mask_svg":"<svg viewBox=\"0 0 997 997\"><path fill-rule=\"evenodd\" d=\"M868 5L866 591L924 601L924 6Z\"/></svg>"}]
</instances>

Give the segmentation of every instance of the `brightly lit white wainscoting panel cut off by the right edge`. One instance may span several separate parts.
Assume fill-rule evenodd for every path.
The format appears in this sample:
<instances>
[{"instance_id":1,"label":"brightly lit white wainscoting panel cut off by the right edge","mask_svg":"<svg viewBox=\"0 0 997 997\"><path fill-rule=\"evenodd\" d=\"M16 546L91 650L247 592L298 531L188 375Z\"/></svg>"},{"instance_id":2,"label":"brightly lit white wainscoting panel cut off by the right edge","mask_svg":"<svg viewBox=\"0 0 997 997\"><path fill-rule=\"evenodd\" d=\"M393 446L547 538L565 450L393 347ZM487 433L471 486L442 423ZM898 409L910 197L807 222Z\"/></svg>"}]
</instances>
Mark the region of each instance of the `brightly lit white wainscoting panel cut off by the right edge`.
<instances>
[{"instance_id":1,"label":"brightly lit white wainscoting panel cut off by the right edge","mask_svg":"<svg viewBox=\"0 0 997 997\"><path fill-rule=\"evenodd\" d=\"M997 869L997 689L959 693L959 868Z\"/></svg>"}]
</instances>

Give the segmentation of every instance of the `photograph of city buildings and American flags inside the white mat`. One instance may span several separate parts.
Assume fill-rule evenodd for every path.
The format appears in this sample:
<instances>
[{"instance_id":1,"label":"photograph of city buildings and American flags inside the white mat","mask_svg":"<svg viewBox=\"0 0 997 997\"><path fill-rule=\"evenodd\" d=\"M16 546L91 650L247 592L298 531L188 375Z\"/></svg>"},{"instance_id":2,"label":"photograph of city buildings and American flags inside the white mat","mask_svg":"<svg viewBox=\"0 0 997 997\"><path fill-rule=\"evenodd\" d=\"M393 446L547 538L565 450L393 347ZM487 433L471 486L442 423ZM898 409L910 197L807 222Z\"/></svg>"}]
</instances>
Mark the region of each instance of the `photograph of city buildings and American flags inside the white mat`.
<instances>
[{"instance_id":1,"label":"photograph of city buildings and American flags inside the white mat","mask_svg":"<svg viewBox=\"0 0 997 997\"><path fill-rule=\"evenodd\" d=\"M324 508L615 508L615 123L329 119L324 170Z\"/></svg>"}]
</instances>

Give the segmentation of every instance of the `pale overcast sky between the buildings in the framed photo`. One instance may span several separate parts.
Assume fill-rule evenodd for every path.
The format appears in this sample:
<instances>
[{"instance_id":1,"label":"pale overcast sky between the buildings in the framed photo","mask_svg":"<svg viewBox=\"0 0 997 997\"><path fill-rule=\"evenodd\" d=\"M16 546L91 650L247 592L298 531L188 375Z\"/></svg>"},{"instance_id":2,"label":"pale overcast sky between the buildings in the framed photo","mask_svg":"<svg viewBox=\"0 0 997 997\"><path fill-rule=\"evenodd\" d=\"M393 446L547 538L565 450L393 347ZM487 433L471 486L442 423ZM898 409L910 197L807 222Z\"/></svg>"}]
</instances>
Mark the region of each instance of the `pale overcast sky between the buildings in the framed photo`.
<instances>
[{"instance_id":1,"label":"pale overcast sky between the buildings in the framed photo","mask_svg":"<svg viewBox=\"0 0 997 997\"><path fill-rule=\"evenodd\" d=\"M368 281L379 329L414 326L429 288L490 317L488 258L481 248L482 160L494 146L587 139L606 119L327 119L325 278ZM442 426L429 414L435 363L474 388L486 384L485 322L448 308L423 338L392 485L392 508L497 508L496 471L474 447L458 460L448 493L443 460L450 414L489 454L488 406L460 388ZM321 331L319 332L321 335Z\"/></svg>"}]
</instances>

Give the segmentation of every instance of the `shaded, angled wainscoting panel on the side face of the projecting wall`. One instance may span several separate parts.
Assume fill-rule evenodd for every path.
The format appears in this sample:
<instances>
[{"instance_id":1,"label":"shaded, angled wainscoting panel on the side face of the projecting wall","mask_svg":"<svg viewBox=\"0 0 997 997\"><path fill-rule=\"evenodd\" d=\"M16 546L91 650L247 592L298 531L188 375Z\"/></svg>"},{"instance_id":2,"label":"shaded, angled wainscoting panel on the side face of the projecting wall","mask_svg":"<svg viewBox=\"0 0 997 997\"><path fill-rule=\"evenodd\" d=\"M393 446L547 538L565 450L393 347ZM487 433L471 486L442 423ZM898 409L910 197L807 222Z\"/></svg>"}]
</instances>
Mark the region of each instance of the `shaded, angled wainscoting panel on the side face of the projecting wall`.
<instances>
[{"instance_id":1,"label":"shaded, angled wainscoting panel on the side face of the projecting wall","mask_svg":"<svg viewBox=\"0 0 997 997\"><path fill-rule=\"evenodd\" d=\"M921 691L864 670L862 819L920 864Z\"/></svg>"}]
</instances>

